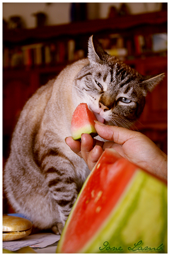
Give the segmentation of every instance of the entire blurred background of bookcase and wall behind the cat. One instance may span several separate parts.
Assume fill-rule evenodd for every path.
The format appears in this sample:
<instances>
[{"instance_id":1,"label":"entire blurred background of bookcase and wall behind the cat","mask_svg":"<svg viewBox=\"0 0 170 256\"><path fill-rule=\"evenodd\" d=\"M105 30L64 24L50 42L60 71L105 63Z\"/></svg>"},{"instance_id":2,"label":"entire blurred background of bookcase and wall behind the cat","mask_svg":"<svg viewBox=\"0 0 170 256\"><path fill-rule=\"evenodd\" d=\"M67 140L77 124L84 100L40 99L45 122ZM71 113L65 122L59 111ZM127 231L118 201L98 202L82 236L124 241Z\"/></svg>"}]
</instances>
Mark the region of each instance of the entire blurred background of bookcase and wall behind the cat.
<instances>
[{"instance_id":1,"label":"entire blurred background of bookcase and wall behind the cat","mask_svg":"<svg viewBox=\"0 0 170 256\"><path fill-rule=\"evenodd\" d=\"M141 74L166 73L135 124L167 153L167 3L3 3L3 163L25 102L94 34Z\"/></svg>"}]
</instances>

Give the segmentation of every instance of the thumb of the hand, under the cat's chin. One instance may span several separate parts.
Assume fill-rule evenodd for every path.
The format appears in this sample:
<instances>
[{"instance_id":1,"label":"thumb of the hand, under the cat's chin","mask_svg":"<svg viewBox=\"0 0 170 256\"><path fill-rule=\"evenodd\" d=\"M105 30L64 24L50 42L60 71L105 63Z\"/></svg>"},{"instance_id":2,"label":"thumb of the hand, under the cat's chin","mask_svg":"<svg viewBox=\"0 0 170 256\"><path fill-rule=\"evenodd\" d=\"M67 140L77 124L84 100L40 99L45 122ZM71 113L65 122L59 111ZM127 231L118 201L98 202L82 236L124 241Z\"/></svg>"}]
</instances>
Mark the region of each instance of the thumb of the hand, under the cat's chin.
<instances>
[{"instance_id":1,"label":"thumb of the hand, under the cat's chin","mask_svg":"<svg viewBox=\"0 0 170 256\"><path fill-rule=\"evenodd\" d=\"M124 144L129 139L141 135L140 132L131 131L118 126L99 124L98 122L95 124L95 129L101 138L114 141L117 144Z\"/></svg>"}]
</instances>

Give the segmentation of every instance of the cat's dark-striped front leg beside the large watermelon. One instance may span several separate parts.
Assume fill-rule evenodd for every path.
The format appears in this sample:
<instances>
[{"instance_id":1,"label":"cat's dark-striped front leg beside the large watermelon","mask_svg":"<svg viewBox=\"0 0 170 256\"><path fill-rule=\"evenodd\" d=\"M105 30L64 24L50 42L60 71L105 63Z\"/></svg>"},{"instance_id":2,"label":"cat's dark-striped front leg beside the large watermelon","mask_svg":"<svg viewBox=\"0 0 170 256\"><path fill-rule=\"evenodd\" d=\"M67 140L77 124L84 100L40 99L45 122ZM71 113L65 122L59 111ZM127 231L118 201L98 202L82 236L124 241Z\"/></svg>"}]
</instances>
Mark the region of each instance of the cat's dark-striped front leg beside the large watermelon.
<instances>
[{"instance_id":1,"label":"cat's dark-striped front leg beside the large watermelon","mask_svg":"<svg viewBox=\"0 0 170 256\"><path fill-rule=\"evenodd\" d=\"M53 222L52 230L57 233L58 229L61 234L79 193L74 165L65 155L50 150L50 154L48 153L43 157L40 168L45 175L53 204L55 204L54 211L57 208L59 214L59 216L56 216L56 221ZM57 229L55 226L57 226Z\"/></svg>"}]
</instances>

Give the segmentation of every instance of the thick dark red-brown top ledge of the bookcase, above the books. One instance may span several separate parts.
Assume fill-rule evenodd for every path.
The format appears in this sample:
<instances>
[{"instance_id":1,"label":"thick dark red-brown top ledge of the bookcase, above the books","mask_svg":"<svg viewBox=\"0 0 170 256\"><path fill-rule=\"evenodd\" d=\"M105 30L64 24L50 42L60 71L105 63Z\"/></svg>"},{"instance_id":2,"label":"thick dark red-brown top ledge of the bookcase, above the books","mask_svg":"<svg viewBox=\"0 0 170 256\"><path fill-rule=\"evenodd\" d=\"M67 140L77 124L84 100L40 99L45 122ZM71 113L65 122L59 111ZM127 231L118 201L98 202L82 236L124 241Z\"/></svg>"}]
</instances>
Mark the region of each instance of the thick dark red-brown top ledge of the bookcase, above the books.
<instances>
[{"instance_id":1,"label":"thick dark red-brown top ledge of the bookcase, above the books","mask_svg":"<svg viewBox=\"0 0 170 256\"><path fill-rule=\"evenodd\" d=\"M103 30L128 29L138 25L159 25L168 22L168 11L127 15L108 19L86 20L35 29L3 30L3 42L17 43L30 38L45 39L58 36L92 34Z\"/></svg>"}]
</instances>

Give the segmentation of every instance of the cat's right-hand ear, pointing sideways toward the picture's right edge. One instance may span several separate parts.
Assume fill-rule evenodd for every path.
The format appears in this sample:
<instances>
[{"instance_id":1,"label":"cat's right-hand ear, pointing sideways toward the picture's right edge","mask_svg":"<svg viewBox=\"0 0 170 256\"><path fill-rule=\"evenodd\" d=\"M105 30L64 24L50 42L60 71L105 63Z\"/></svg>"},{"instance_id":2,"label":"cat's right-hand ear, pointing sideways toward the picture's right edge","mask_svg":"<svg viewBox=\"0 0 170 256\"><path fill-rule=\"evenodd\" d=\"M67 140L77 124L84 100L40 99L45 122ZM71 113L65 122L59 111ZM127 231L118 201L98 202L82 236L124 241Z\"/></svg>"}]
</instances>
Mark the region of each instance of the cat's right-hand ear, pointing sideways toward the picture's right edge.
<instances>
[{"instance_id":1,"label":"cat's right-hand ear, pointing sideways toward the picture's right edge","mask_svg":"<svg viewBox=\"0 0 170 256\"><path fill-rule=\"evenodd\" d=\"M150 75L150 76L145 76L144 81L142 82L142 87L149 91L152 92L153 89L156 87L157 84L159 84L165 77L165 73L159 74L159 75ZM146 92L147 93L147 92Z\"/></svg>"}]
</instances>

